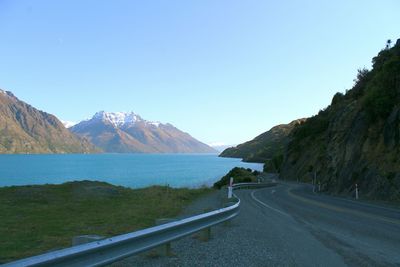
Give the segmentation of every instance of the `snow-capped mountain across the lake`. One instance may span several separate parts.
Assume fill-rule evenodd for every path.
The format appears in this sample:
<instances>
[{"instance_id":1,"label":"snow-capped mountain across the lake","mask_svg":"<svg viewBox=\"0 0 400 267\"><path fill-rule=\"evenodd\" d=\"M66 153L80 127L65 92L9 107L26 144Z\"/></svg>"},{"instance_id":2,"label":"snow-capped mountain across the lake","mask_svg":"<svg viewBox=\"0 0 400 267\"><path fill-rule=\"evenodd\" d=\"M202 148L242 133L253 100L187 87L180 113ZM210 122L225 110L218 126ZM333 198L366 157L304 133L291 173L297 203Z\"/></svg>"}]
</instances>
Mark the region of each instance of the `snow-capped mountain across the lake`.
<instances>
[{"instance_id":1,"label":"snow-capped mountain across the lake","mask_svg":"<svg viewBox=\"0 0 400 267\"><path fill-rule=\"evenodd\" d=\"M111 153L216 152L169 123L147 121L133 112L100 111L70 130Z\"/></svg>"}]
</instances>

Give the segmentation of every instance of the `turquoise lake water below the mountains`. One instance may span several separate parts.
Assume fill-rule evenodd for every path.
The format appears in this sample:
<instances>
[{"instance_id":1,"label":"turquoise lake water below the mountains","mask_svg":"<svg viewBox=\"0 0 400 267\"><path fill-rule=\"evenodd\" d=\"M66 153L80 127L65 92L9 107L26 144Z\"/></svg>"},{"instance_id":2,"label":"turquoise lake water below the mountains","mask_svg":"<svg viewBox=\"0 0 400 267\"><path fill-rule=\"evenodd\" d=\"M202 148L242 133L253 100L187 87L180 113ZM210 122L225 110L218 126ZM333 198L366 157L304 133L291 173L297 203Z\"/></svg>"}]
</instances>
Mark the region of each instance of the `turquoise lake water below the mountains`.
<instances>
[{"instance_id":1,"label":"turquoise lake water below the mountains","mask_svg":"<svg viewBox=\"0 0 400 267\"><path fill-rule=\"evenodd\" d=\"M132 188L212 185L233 167L262 164L215 154L0 155L0 186L97 180Z\"/></svg>"}]
</instances>

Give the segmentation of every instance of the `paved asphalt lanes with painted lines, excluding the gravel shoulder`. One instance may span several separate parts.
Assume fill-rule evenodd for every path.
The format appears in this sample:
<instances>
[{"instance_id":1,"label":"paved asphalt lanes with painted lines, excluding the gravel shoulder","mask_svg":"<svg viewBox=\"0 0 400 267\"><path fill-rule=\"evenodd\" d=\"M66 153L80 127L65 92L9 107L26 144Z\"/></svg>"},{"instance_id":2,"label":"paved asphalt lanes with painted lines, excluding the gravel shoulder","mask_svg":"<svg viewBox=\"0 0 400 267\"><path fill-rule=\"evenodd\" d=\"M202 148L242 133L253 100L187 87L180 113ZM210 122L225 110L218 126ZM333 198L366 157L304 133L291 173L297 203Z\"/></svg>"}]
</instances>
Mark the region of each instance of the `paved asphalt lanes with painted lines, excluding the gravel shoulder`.
<instances>
[{"instance_id":1,"label":"paved asphalt lanes with painted lines, excluding the gravel shoulder","mask_svg":"<svg viewBox=\"0 0 400 267\"><path fill-rule=\"evenodd\" d=\"M311 235L319 246L308 249L310 257L328 249L350 266L400 266L399 210L314 194L308 185L280 184L253 191L250 197L274 217L265 219L267 227L280 230L280 217L281 227Z\"/></svg>"}]
</instances>

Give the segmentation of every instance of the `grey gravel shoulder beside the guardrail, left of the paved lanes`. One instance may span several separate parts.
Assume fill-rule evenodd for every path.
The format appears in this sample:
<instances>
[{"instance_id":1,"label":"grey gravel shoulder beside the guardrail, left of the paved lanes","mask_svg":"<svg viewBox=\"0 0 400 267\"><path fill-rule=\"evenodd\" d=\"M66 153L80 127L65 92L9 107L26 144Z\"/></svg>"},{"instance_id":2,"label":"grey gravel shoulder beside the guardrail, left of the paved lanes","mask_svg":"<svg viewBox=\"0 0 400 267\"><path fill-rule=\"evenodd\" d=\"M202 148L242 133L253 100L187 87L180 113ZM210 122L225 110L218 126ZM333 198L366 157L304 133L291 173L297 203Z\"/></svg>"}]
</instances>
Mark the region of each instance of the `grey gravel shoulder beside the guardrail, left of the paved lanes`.
<instances>
[{"instance_id":1,"label":"grey gravel shoulder beside the guardrail, left of the paved lanes","mask_svg":"<svg viewBox=\"0 0 400 267\"><path fill-rule=\"evenodd\" d=\"M172 243L172 257L145 253L113 266L345 266L338 255L321 246L291 217L271 214L254 201L252 192L236 192L242 200L239 216L228 225L213 227L209 241L190 236ZM186 212L202 212L221 203L224 195L218 192L200 199ZM308 256L309 250L316 256Z\"/></svg>"}]
</instances>

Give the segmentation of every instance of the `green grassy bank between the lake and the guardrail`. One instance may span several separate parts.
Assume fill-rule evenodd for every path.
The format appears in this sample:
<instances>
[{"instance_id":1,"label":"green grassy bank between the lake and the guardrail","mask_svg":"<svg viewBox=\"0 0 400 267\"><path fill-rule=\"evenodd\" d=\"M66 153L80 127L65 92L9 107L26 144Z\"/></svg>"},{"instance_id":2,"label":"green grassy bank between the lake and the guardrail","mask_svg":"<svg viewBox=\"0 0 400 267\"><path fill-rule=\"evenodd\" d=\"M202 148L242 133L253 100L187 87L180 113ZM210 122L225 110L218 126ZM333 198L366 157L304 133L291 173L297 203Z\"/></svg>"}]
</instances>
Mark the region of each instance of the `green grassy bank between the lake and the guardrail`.
<instances>
[{"instance_id":1,"label":"green grassy bank between the lake and the guardrail","mask_svg":"<svg viewBox=\"0 0 400 267\"><path fill-rule=\"evenodd\" d=\"M0 188L0 264L69 247L74 236L109 237L152 226L211 190L92 181Z\"/></svg>"}]
</instances>

